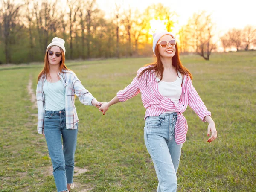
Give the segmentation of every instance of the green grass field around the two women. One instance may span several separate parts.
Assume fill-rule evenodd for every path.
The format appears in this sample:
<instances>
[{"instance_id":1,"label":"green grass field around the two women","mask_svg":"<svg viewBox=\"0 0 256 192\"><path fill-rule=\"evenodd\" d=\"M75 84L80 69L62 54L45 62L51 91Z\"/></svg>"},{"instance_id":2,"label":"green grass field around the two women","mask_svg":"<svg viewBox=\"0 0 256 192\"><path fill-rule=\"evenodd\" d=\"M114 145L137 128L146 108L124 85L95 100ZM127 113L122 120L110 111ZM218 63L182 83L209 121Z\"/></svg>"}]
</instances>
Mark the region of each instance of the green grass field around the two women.
<instances>
[{"instance_id":1,"label":"green grass field around the two women","mask_svg":"<svg viewBox=\"0 0 256 192\"><path fill-rule=\"evenodd\" d=\"M99 101L125 88L152 58L69 62ZM256 192L256 52L212 54L210 61L181 56L212 112L218 139L207 143L207 123L190 108L177 173L178 192ZM37 109L27 85L42 65L0 67L0 192L55 192L51 160L37 133ZM76 99L79 134L73 192L156 192L157 177L143 139L140 95L112 106L105 116ZM89 190L90 189L90 190Z\"/></svg>"}]
</instances>

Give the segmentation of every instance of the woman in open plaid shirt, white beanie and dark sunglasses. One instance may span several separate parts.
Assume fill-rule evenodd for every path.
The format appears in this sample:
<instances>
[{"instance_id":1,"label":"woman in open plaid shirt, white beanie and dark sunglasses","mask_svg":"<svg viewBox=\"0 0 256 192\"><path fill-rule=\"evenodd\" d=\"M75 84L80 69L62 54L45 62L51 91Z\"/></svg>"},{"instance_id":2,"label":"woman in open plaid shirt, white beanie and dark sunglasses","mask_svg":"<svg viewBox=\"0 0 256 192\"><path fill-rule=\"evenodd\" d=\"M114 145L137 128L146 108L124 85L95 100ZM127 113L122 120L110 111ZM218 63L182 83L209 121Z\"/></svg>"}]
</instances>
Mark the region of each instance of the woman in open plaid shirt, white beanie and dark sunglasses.
<instances>
[{"instance_id":1,"label":"woman in open plaid shirt, white beanie and dark sunglasses","mask_svg":"<svg viewBox=\"0 0 256 192\"><path fill-rule=\"evenodd\" d=\"M67 69L64 43L63 39L55 37L47 46L44 69L38 75L36 90L38 133L45 135L58 192L70 191L73 186L79 122L75 94L84 105L99 108L102 104L84 88L76 74Z\"/></svg>"}]
</instances>

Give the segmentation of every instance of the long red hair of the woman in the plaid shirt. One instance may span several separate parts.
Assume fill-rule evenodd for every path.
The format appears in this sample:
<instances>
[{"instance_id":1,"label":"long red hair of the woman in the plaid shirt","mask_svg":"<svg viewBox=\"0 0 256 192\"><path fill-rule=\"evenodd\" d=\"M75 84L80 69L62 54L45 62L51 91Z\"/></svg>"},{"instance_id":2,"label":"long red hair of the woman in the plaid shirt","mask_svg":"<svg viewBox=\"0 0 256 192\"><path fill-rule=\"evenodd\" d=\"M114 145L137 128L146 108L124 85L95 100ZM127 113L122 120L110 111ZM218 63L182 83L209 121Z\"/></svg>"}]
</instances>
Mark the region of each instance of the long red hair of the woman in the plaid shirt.
<instances>
[{"instance_id":1,"label":"long red hair of the woman in the plaid shirt","mask_svg":"<svg viewBox=\"0 0 256 192\"><path fill-rule=\"evenodd\" d=\"M55 46L55 45L54 45ZM52 46L51 46L52 47ZM51 48L49 47L49 49ZM49 50L48 49L48 50ZM61 49L61 48L60 48ZM48 51L47 50L47 51ZM60 72L62 72L62 70L70 70L66 67L65 65L65 55L64 55L64 51L61 49L61 55L62 55L62 59L60 61ZM39 73L38 75L38 81L41 78L41 76L49 76L50 77L50 66L49 66L49 61L48 61L48 52L45 53L44 56L44 68L43 70Z\"/></svg>"}]
</instances>

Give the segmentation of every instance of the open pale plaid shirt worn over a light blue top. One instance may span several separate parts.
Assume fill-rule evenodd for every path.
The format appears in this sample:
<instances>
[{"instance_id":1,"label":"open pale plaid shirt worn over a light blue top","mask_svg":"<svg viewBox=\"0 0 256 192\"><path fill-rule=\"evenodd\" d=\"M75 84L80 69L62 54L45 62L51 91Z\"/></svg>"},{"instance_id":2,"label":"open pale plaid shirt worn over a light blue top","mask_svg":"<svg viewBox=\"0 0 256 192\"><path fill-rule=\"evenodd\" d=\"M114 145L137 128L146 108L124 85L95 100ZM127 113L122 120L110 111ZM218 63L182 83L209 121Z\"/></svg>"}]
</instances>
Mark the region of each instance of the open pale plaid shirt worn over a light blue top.
<instances>
[{"instance_id":1,"label":"open pale plaid shirt worn over a light blue top","mask_svg":"<svg viewBox=\"0 0 256 192\"><path fill-rule=\"evenodd\" d=\"M66 127L67 129L77 129L76 123L79 122L76 107L75 107L75 94L80 102L84 105L92 105L92 100L95 99L93 95L84 88L81 81L77 78L76 74L71 70L63 70L58 74L61 82L65 87L65 109L66 109ZM43 86L46 81L46 76L43 75L37 84L36 99L38 106L38 133L44 133L44 111L45 100Z\"/></svg>"}]
</instances>

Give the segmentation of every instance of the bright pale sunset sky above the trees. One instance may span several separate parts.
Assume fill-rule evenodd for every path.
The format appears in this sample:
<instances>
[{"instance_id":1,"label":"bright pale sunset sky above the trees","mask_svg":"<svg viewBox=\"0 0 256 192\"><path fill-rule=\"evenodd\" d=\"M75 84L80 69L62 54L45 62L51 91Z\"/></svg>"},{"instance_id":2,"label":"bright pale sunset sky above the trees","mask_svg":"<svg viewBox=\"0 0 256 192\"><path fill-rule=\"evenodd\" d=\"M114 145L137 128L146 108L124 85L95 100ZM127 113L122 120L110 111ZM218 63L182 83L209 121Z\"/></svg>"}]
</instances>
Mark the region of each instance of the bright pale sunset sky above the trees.
<instances>
[{"instance_id":1,"label":"bright pale sunset sky above the trees","mask_svg":"<svg viewBox=\"0 0 256 192\"><path fill-rule=\"evenodd\" d=\"M176 28L186 24L193 13L206 10L207 13L212 14L212 20L216 23L219 35L223 35L230 28L242 29L248 24L256 26L255 0L97 0L97 3L106 15L111 14L115 3L119 3L122 7L131 6L140 10L144 10L153 3L162 3L179 15L179 24Z\"/></svg>"}]
</instances>

